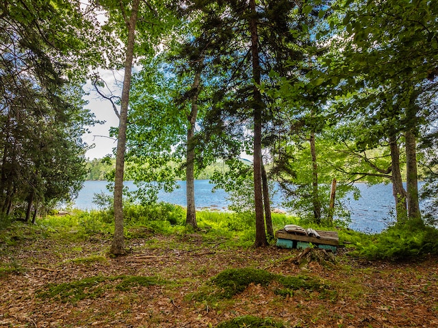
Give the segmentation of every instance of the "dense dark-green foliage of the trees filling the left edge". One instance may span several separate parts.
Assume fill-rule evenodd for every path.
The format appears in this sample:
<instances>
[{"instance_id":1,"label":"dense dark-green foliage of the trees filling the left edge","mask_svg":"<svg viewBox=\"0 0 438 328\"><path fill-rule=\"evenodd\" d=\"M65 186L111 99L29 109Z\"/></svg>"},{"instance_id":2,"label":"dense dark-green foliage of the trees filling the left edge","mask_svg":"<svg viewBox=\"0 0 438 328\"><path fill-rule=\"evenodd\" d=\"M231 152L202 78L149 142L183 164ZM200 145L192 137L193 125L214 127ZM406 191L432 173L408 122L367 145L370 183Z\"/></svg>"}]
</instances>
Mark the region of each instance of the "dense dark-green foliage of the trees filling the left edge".
<instances>
[{"instance_id":1,"label":"dense dark-green foliage of the trees filling the left edge","mask_svg":"<svg viewBox=\"0 0 438 328\"><path fill-rule=\"evenodd\" d=\"M1 12L0 212L29 219L24 207L69 201L81 189L82 136L96 123L81 78L99 58L90 55L97 34L92 11L70 1L8 1Z\"/></svg>"}]
</instances>

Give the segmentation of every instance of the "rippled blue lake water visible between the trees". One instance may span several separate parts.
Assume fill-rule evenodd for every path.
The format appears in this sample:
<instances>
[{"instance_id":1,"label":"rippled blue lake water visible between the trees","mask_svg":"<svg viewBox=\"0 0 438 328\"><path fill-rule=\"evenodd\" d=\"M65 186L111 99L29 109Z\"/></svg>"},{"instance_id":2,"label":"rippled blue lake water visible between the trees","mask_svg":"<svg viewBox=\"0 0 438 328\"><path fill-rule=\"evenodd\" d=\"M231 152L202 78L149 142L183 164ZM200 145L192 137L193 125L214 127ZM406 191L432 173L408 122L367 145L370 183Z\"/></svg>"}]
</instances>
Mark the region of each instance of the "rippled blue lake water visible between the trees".
<instances>
[{"instance_id":1,"label":"rippled blue lake water visible between the trees","mask_svg":"<svg viewBox=\"0 0 438 328\"><path fill-rule=\"evenodd\" d=\"M96 209L96 205L92 203L94 193L105 192L109 193L105 186L107 181L86 181L82 190L75 201L75 207L81 210ZM176 205L186 205L185 201L185 181L178 181L180 188L173 192L159 192L159 201L173 203ZM125 186L133 190L135 186L132 181L125 181ZM346 202L348 209L351 212L352 223L351 229L363 232L380 232L388 223L394 222L394 198L392 196L391 184L376 184L367 186L366 184L355 184L361 191L361 198L355 201L352 197ZM211 192L214 187L209 183L209 180L195 181L195 201L196 207L209 207L218 210L226 210L229 202L227 201L227 192L224 190L216 190ZM281 195L277 193L272 200L272 208L281 208Z\"/></svg>"}]
</instances>

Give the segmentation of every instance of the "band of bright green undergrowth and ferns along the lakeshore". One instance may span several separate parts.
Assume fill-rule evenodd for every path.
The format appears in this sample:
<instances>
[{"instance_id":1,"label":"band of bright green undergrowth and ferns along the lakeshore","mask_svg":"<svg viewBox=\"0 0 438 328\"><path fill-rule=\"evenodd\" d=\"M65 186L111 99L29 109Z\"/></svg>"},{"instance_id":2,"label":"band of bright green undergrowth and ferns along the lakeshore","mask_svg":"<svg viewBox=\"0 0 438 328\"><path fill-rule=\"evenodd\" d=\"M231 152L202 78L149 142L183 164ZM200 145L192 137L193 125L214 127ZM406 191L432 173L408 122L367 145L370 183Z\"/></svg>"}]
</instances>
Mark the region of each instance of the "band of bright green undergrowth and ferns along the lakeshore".
<instances>
[{"instance_id":1,"label":"band of bright green undergrowth and ferns along the lakeshore","mask_svg":"<svg viewBox=\"0 0 438 328\"><path fill-rule=\"evenodd\" d=\"M252 247L255 240L255 215L251 212L219 212L203 210L196 213L199 229L185 226L185 210L178 205L155 203L124 207L125 238L150 238L156 234L185 236L196 234L201 242L216 243L218 247ZM1 218L0 252L8 251L26 240L56 238L70 242L110 239L114 231L114 213L111 209L72 210L65 216L49 215L39 218L36 225L12 222ZM309 225L294 216L272 213L274 230L287 224L313 229L335 229ZM342 247L350 255L370 260L419 257L438 254L438 230L424 225L421 220L400 220L381 234L363 234L350 229L337 229ZM181 241L185 237L179 238ZM275 240L270 240L273 244Z\"/></svg>"}]
</instances>

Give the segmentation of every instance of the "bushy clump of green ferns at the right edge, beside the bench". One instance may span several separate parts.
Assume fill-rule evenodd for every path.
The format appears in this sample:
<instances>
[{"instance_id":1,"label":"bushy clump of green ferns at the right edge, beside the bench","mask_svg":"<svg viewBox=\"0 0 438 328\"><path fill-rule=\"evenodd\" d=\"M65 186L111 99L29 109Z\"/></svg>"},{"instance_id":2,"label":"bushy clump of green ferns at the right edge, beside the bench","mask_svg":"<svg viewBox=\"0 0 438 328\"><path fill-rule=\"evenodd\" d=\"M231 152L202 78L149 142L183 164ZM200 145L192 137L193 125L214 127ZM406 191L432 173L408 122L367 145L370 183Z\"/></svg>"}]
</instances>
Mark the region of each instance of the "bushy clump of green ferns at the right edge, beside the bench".
<instances>
[{"instance_id":1,"label":"bushy clump of green ferns at the right edge, beside the bench","mask_svg":"<svg viewBox=\"0 0 438 328\"><path fill-rule=\"evenodd\" d=\"M401 260L438 254L438 229L421 220L402 220L355 245L357 251L353 254L370 259Z\"/></svg>"}]
</instances>

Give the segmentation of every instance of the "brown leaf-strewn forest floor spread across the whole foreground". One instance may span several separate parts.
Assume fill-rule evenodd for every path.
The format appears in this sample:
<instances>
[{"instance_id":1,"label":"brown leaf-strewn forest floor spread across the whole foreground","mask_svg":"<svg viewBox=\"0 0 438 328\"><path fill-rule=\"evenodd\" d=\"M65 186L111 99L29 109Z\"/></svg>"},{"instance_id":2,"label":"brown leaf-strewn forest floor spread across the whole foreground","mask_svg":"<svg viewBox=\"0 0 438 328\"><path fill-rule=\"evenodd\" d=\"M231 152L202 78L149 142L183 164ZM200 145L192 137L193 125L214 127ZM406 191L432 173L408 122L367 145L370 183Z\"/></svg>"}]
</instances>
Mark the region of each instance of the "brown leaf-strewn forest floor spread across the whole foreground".
<instances>
[{"instance_id":1,"label":"brown leaf-strewn forest floor spread across the whole foreground","mask_svg":"<svg viewBox=\"0 0 438 328\"><path fill-rule=\"evenodd\" d=\"M0 327L216 327L246 315L285 327L438 327L437 257L369 262L340 247L307 263L298 250L145 233L111 258L108 235L37 234L0 240ZM323 287L278 294L276 282L250 283L231 299L196 297L227 268L300 275Z\"/></svg>"}]
</instances>

